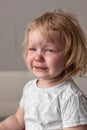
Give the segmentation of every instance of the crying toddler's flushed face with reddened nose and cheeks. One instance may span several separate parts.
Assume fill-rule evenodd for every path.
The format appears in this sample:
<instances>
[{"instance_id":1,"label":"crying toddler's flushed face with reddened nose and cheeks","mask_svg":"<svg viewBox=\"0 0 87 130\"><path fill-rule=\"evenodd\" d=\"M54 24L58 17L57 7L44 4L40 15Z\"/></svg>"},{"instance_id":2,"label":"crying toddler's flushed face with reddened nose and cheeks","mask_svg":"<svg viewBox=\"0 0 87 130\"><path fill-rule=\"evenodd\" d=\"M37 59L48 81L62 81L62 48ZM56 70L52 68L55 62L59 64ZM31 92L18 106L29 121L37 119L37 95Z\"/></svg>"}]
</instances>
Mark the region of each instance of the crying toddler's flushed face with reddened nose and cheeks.
<instances>
[{"instance_id":1,"label":"crying toddler's flushed face with reddened nose and cheeks","mask_svg":"<svg viewBox=\"0 0 87 130\"><path fill-rule=\"evenodd\" d=\"M64 44L60 34L50 32L54 42L47 41L38 30L30 31L28 37L27 66L39 79L55 79L64 69Z\"/></svg>"}]
</instances>

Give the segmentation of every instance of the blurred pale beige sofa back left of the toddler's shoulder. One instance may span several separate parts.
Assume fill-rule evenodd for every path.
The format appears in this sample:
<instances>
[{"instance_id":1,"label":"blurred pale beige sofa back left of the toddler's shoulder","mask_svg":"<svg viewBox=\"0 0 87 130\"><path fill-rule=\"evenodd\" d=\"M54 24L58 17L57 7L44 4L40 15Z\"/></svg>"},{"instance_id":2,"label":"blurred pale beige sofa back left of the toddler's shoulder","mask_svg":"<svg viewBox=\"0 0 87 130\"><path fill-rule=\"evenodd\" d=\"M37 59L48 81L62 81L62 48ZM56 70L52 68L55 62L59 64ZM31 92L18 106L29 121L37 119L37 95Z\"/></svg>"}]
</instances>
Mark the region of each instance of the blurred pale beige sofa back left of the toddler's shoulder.
<instances>
[{"instance_id":1,"label":"blurred pale beige sofa back left of the toddler's shoulder","mask_svg":"<svg viewBox=\"0 0 87 130\"><path fill-rule=\"evenodd\" d=\"M0 72L0 117L16 111L24 85L33 78L27 71Z\"/></svg>"}]
</instances>

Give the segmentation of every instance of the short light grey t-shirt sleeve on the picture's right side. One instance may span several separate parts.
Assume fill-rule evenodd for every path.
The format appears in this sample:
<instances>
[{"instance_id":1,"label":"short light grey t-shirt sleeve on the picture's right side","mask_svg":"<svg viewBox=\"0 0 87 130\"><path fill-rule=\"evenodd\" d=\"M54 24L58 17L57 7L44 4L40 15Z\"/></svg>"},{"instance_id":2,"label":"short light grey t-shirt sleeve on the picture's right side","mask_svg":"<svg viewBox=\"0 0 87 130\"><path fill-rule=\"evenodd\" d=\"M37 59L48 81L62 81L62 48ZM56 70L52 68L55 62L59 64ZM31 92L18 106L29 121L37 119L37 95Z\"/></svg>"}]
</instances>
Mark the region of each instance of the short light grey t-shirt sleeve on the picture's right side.
<instances>
[{"instance_id":1,"label":"short light grey t-shirt sleeve on the picture's right side","mask_svg":"<svg viewBox=\"0 0 87 130\"><path fill-rule=\"evenodd\" d=\"M73 94L61 107L63 128L87 124L87 98Z\"/></svg>"}]
</instances>

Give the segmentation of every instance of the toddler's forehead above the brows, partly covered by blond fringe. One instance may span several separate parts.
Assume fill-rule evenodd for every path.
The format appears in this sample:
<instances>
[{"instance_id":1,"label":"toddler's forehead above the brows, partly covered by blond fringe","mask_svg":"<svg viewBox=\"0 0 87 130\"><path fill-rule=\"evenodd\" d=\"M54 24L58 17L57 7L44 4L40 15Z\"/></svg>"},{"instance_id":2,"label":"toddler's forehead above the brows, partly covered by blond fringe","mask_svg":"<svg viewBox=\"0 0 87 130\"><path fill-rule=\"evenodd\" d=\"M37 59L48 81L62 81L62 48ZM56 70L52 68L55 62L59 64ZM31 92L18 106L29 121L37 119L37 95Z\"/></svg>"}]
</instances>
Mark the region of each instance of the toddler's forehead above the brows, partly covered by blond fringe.
<instances>
[{"instance_id":1,"label":"toddler's forehead above the brows, partly covered by blond fringe","mask_svg":"<svg viewBox=\"0 0 87 130\"><path fill-rule=\"evenodd\" d=\"M36 43L44 43L46 46L52 45L60 48L60 50L65 48L65 43L61 38L60 31L50 30L49 33L47 32L47 34L41 33L39 30L30 31L29 45L35 45Z\"/></svg>"}]
</instances>

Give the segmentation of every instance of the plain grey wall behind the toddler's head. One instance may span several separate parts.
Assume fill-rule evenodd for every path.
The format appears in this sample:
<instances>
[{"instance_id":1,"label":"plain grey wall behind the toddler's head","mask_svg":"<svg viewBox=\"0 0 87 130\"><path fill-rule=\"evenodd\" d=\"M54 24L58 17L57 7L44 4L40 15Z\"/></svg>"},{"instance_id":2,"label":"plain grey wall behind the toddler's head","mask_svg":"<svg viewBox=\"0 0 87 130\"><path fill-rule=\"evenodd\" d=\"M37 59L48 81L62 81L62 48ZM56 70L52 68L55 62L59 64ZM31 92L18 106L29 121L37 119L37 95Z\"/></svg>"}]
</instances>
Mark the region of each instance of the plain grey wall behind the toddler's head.
<instances>
[{"instance_id":1,"label":"plain grey wall behind the toddler's head","mask_svg":"<svg viewBox=\"0 0 87 130\"><path fill-rule=\"evenodd\" d=\"M87 32L87 0L0 0L0 71L26 70L21 47L26 25L59 7L75 11Z\"/></svg>"}]
</instances>

